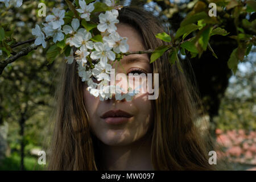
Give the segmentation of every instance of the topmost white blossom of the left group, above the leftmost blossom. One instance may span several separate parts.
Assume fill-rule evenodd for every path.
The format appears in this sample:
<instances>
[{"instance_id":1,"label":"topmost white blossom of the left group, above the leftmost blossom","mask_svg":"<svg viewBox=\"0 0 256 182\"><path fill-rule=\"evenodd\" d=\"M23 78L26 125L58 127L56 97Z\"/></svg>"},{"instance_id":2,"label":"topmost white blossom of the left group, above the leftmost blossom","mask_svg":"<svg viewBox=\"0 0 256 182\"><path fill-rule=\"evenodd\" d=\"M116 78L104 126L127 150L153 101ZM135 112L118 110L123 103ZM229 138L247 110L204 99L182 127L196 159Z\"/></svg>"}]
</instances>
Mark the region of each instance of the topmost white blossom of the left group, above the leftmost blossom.
<instances>
[{"instance_id":1,"label":"topmost white blossom of the left group, above the leftmost blossom","mask_svg":"<svg viewBox=\"0 0 256 182\"><path fill-rule=\"evenodd\" d=\"M46 16L46 22L52 24L53 29L58 29L64 24L65 10L59 10L53 7L52 12L54 15Z\"/></svg>"}]
</instances>

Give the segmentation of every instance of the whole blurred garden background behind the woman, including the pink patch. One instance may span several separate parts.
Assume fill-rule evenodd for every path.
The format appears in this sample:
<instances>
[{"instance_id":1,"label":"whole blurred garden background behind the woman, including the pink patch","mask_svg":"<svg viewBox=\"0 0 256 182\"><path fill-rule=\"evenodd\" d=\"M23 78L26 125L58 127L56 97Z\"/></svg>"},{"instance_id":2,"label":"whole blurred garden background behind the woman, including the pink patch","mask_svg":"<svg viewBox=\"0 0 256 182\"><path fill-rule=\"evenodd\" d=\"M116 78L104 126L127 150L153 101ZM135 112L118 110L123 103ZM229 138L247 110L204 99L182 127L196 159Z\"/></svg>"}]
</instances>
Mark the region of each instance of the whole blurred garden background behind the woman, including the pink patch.
<instances>
[{"instance_id":1,"label":"whole blurred garden background behind the woman, including the pink patch","mask_svg":"<svg viewBox=\"0 0 256 182\"><path fill-rule=\"evenodd\" d=\"M19 42L33 38L31 29L45 20L37 14L40 2L46 4L46 15L53 7L65 8L64 1L23 1L22 7L10 7L6 11L4 3L0 3L0 23L8 24ZM152 11L165 22L170 34L174 34L197 1L130 0L121 3ZM230 36L234 35L233 19L224 14L222 18L222 27ZM255 12L243 18L254 22L254 31L247 33L255 35ZM191 67L195 73L204 104L205 114L201 116L204 120L199 119L197 124L203 126L203 130L210 130L220 144L217 152L228 160L226 169L256 170L256 48L251 48L234 75L227 61L237 42L228 36L216 35L210 39L210 45L218 59L210 51L204 52L200 59L180 55L184 69ZM42 170L45 167L38 164L38 152L49 146L49 119L63 61L63 57L57 57L49 64L46 50L39 47L20 57L0 75L0 170Z\"/></svg>"}]
</instances>

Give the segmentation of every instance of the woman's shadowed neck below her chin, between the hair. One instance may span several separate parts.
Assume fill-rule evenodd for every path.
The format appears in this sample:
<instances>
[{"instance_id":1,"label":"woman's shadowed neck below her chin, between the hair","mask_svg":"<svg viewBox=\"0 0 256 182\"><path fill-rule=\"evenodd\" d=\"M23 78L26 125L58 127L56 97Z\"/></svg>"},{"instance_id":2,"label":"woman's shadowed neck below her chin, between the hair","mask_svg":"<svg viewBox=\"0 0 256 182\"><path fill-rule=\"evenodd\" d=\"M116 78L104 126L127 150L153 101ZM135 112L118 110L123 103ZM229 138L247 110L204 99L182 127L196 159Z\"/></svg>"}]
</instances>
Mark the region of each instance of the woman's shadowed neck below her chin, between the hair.
<instances>
[{"instance_id":1,"label":"woman's shadowed neck below her chin, between the hair","mask_svg":"<svg viewBox=\"0 0 256 182\"><path fill-rule=\"evenodd\" d=\"M148 135L127 146L101 143L101 159L107 170L154 170L151 163L151 137Z\"/></svg>"}]
</instances>

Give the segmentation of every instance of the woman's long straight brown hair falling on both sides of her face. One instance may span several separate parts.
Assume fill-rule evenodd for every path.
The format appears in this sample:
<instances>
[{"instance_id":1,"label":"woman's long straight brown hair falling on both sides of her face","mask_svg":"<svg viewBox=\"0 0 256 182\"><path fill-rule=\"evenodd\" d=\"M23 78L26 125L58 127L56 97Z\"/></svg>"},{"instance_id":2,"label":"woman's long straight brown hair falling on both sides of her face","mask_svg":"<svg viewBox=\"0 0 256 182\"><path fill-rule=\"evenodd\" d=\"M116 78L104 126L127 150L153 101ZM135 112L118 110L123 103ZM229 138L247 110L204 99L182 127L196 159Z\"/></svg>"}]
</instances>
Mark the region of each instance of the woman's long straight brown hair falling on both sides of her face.
<instances>
[{"instance_id":1,"label":"woman's long straight brown hair falling on both sides of her face","mask_svg":"<svg viewBox=\"0 0 256 182\"><path fill-rule=\"evenodd\" d=\"M164 29L147 11L124 7L118 19L141 32L146 49L163 45L155 35ZM151 138L151 160L156 170L211 170L208 163L208 143L195 126L198 102L177 64L168 63L165 53L152 63L159 73L159 97L154 100L154 126ZM51 142L48 169L97 170L102 169L95 139L90 133L83 102L83 82L77 74L77 65L64 64L59 89L55 129ZM209 137L207 135L207 137ZM209 140L207 140L209 141Z\"/></svg>"}]
</instances>

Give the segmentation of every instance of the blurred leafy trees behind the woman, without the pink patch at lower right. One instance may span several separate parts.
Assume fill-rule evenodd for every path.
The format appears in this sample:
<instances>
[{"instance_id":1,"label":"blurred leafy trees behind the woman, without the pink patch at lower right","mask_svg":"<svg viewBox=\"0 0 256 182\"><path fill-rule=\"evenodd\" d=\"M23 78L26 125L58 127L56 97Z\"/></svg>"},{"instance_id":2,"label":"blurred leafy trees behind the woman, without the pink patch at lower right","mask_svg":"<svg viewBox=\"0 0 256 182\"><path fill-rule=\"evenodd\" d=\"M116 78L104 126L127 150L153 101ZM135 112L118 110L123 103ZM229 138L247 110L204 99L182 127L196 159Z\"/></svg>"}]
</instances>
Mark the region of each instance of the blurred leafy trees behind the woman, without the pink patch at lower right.
<instances>
[{"instance_id":1,"label":"blurred leafy trees behind the woman, without the pink patch at lower right","mask_svg":"<svg viewBox=\"0 0 256 182\"><path fill-rule=\"evenodd\" d=\"M22 7L7 10L0 3L0 26L11 35L13 43L33 38L31 29L36 23L44 22L45 17L38 16L40 2L46 4L46 15L53 7L67 9L61 0L23 1ZM179 52L179 58L185 71L189 67L193 69L213 137L217 128L255 131L255 1L250 3L251 6L246 1L236 0L121 1L125 6L141 6L152 11L165 22L166 31L172 38L180 28L180 22L191 11L208 9L209 2L218 5L221 28L229 32L227 36L214 35L210 38L209 44L218 59L209 49L202 52L200 58L189 52L186 56ZM195 33L187 38L192 36ZM10 55L15 54L28 45L6 51L10 51ZM232 69L228 65L235 48L238 48L238 58L234 60L240 62L236 75L232 69L236 71L237 64L230 67ZM249 55L245 56L246 52L250 52ZM63 56L59 56L49 64L46 54L47 48L39 47L7 65L0 75L0 169L43 169L37 164L36 149L40 150L49 143L48 121L55 103L53 94L59 67L63 62ZM238 61L240 57L245 59Z\"/></svg>"}]
</instances>

